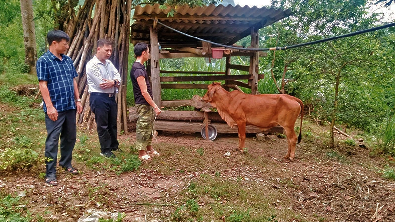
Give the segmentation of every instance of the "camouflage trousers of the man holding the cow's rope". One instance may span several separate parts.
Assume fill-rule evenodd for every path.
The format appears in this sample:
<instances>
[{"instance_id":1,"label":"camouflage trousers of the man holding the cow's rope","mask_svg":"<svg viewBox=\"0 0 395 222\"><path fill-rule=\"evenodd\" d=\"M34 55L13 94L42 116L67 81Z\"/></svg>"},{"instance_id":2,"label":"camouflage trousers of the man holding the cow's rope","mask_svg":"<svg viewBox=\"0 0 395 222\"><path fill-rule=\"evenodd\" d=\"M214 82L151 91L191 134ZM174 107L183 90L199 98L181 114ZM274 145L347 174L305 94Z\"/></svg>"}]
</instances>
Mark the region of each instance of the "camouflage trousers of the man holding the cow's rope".
<instances>
[{"instance_id":1,"label":"camouflage trousers of the man holding the cow's rope","mask_svg":"<svg viewBox=\"0 0 395 222\"><path fill-rule=\"evenodd\" d=\"M139 118L136 123L136 143L134 148L145 150L151 145L154 130L154 110L149 105L136 104Z\"/></svg>"}]
</instances>

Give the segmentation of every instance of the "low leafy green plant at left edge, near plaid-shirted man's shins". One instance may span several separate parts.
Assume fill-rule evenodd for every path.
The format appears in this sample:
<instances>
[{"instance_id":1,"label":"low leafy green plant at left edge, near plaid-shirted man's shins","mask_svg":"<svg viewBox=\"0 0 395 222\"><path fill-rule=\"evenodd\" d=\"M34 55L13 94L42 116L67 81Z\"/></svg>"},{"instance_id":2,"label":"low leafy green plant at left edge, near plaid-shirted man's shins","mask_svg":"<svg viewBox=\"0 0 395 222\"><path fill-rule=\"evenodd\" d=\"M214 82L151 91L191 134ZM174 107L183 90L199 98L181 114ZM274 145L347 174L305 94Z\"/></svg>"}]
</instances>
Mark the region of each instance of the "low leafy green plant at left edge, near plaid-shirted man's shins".
<instances>
[{"instance_id":1,"label":"low leafy green plant at left edge, near plaid-shirted man's shins","mask_svg":"<svg viewBox=\"0 0 395 222\"><path fill-rule=\"evenodd\" d=\"M42 162L39 154L32 148L7 147L0 152L1 171L26 170Z\"/></svg>"}]
</instances>

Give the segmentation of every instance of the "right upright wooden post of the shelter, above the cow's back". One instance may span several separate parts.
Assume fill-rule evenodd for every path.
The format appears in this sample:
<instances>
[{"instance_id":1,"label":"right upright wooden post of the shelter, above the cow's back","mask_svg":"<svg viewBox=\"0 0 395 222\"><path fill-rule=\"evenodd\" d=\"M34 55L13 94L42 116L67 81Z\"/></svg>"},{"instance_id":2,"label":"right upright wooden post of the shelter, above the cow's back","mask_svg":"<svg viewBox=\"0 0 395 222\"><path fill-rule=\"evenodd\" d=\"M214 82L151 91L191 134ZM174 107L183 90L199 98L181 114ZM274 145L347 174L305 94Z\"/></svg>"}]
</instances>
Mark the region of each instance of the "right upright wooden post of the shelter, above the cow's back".
<instances>
[{"instance_id":1,"label":"right upright wooden post of the shelter, above the cow's back","mask_svg":"<svg viewBox=\"0 0 395 222\"><path fill-rule=\"evenodd\" d=\"M251 29L251 47L258 48L258 30L253 27ZM252 56L250 56L250 75L252 75L252 79L248 80L248 85L251 87L251 94L257 94L258 92L258 67L259 67L259 52L254 52Z\"/></svg>"}]
</instances>

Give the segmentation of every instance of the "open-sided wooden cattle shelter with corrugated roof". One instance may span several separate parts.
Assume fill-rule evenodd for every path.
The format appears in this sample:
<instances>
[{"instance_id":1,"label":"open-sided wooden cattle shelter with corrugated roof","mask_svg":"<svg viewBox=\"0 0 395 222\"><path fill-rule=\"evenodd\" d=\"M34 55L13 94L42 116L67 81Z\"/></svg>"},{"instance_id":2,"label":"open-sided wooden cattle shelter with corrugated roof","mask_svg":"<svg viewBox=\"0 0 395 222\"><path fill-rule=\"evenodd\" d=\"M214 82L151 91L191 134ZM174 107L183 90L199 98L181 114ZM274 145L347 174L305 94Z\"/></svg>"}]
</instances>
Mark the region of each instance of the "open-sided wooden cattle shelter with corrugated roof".
<instances>
[{"instance_id":1,"label":"open-sided wooden cattle shelter with corrugated roof","mask_svg":"<svg viewBox=\"0 0 395 222\"><path fill-rule=\"evenodd\" d=\"M173 16L168 16L168 13ZM153 99L161 107L178 107L191 104L201 111L166 111L158 116L155 128L168 131L192 131L200 132L202 120L205 124L210 121L218 121L216 127L218 132L231 133L237 129L231 129L222 121L218 114L207 113L209 104L204 104L198 98L191 100L172 100L163 101L161 99L162 89L188 89L198 88L207 89L208 84L195 84L194 81L225 81L225 87L239 89L245 87L251 89L252 94L257 93L257 82L263 78L259 74L259 57L266 56L264 52L249 51L241 46L238 49L218 47L214 44L195 39L208 40L213 43L235 46L234 44L251 35L251 48L259 48L258 30L262 27L271 25L290 15L289 10L275 8L257 8L209 5L205 7L191 8L188 5L173 9L160 9L159 4L136 6L131 26L131 43L145 42L150 45L151 59L148 62L147 71L151 77ZM167 26L167 27L166 27ZM170 27L170 28L169 28ZM180 34L181 31L190 36ZM159 50L159 44L162 50ZM164 49L164 50L163 50ZM226 67L223 72L181 72L160 70L159 60L164 58L184 58L184 57L206 57L212 58L218 53L226 57ZM220 56L220 57L222 57ZM231 56L248 56L249 66L231 64ZM231 70L247 71L246 75L232 75ZM160 74L198 74L197 76L177 76L165 77ZM248 82L240 80L247 79ZM169 83L172 82L172 83ZM185 83L187 82L187 83ZM168 122L171 121L171 122ZM214 123L213 123L214 124ZM225 125L224 125L225 124ZM252 127L247 128L248 133L259 132L260 130ZM207 135L207 134L206 134Z\"/></svg>"}]
</instances>

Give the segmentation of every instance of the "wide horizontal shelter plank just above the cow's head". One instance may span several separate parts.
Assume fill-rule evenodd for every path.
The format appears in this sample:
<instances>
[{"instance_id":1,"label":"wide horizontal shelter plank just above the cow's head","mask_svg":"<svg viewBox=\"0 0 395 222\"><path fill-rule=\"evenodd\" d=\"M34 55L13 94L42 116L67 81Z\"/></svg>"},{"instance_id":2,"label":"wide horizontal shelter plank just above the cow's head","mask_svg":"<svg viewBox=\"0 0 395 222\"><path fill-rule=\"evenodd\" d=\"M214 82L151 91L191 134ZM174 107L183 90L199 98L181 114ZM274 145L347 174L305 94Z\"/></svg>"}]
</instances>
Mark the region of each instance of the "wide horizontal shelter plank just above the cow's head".
<instances>
[{"instance_id":1,"label":"wide horizontal shelter plank just above the cow's head","mask_svg":"<svg viewBox=\"0 0 395 222\"><path fill-rule=\"evenodd\" d=\"M221 81L221 80L239 80L250 79L251 75L210 75L210 76L173 76L160 77L161 82L196 82L196 81Z\"/></svg>"}]
</instances>

